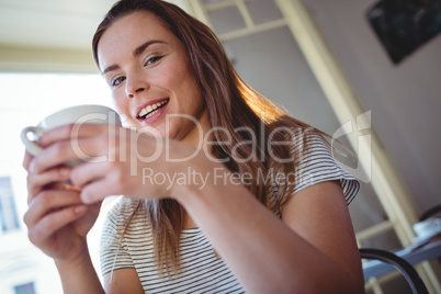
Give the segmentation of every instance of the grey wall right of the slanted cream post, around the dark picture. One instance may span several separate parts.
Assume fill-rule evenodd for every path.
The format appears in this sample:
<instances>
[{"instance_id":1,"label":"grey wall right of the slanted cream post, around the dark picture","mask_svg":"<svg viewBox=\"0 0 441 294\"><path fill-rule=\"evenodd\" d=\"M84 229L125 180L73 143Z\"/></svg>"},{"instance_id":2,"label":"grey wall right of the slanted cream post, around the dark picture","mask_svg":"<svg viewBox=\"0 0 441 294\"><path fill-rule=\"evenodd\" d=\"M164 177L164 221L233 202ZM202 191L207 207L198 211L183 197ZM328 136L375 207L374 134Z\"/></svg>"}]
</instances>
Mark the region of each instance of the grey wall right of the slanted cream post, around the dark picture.
<instances>
[{"instance_id":1,"label":"grey wall right of the slanted cream post, around the dark picture","mask_svg":"<svg viewBox=\"0 0 441 294\"><path fill-rule=\"evenodd\" d=\"M394 65L365 13L376 0L303 0L421 213L441 203L441 36Z\"/></svg>"}]
</instances>

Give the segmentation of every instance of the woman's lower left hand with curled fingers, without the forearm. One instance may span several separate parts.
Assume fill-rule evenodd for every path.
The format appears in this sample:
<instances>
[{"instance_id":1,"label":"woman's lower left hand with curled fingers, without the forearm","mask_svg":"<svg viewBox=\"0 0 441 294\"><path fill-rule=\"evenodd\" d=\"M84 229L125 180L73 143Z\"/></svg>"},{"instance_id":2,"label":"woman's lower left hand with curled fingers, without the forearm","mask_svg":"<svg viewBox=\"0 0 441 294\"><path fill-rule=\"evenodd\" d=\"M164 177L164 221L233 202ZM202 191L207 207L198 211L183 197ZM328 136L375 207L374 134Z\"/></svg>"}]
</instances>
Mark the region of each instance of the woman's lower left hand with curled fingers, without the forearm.
<instances>
[{"instance_id":1,"label":"woman's lower left hand with curled fingers, without the forearm","mask_svg":"<svg viewBox=\"0 0 441 294\"><path fill-rule=\"evenodd\" d=\"M26 152L23 161L29 171L29 210L23 218L29 238L56 261L75 261L87 252L86 236L98 217L100 203L83 204L81 191L63 183L70 178L69 168L36 172L31 167L36 159Z\"/></svg>"}]
</instances>

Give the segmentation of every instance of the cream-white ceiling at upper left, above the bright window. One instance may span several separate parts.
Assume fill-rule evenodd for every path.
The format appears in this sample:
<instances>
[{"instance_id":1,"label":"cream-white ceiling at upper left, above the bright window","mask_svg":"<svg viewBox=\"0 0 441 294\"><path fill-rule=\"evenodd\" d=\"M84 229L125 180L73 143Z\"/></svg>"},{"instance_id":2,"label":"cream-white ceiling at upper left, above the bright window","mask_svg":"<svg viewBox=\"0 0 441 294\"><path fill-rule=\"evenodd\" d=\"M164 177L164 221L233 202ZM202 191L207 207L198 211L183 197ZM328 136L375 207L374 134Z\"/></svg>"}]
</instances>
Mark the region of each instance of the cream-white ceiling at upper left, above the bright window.
<instances>
[{"instance_id":1,"label":"cream-white ceiling at upper left, above the bright window","mask_svg":"<svg viewBox=\"0 0 441 294\"><path fill-rule=\"evenodd\" d=\"M186 0L168 0L189 11ZM0 71L89 71L91 39L116 0L0 0Z\"/></svg>"}]
</instances>

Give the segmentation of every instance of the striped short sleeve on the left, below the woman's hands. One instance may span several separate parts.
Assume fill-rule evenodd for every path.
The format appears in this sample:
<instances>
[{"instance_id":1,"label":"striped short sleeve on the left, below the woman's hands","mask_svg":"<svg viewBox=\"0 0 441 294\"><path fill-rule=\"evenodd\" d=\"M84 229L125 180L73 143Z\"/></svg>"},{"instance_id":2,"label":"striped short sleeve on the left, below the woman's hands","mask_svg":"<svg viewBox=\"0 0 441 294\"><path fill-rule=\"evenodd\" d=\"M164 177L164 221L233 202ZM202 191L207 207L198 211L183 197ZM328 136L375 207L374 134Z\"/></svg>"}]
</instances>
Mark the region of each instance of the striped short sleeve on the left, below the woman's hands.
<instances>
[{"instance_id":1,"label":"striped short sleeve on the left, below the woman's hands","mask_svg":"<svg viewBox=\"0 0 441 294\"><path fill-rule=\"evenodd\" d=\"M123 231L125 219L128 218L129 203L121 199L109 212L104 219L100 240L101 273L113 270L135 268L132 257L124 246Z\"/></svg>"}]
</instances>

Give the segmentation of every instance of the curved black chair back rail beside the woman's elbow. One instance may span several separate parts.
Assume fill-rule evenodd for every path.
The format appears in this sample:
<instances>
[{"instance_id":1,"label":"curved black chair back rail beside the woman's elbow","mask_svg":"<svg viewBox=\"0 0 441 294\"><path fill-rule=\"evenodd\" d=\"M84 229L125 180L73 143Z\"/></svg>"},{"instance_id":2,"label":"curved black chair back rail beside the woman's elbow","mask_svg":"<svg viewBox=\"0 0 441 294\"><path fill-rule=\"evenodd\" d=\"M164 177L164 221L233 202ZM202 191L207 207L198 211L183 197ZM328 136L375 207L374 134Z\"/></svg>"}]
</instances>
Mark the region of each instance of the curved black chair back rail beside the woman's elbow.
<instances>
[{"instance_id":1,"label":"curved black chair back rail beside the woman's elbow","mask_svg":"<svg viewBox=\"0 0 441 294\"><path fill-rule=\"evenodd\" d=\"M415 268L405 259L396 256L395 253L382 249L361 248L360 256L362 259L380 260L396 268L409 283L412 293L429 293Z\"/></svg>"}]
</instances>

